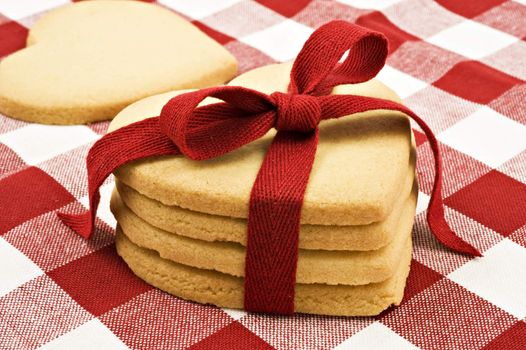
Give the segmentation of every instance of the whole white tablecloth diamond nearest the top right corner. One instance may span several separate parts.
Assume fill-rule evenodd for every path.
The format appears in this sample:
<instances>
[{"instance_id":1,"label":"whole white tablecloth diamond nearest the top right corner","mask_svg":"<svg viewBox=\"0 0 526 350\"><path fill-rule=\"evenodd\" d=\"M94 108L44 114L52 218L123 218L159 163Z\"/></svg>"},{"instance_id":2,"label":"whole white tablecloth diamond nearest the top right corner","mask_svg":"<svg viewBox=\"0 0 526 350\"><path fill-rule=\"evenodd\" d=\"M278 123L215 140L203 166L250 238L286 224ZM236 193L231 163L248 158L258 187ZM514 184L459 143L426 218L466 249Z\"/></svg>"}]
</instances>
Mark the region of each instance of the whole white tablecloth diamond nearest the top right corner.
<instances>
[{"instance_id":1,"label":"whole white tablecloth diamond nearest the top right corner","mask_svg":"<svg viewBox=\"0 0 526 350\"><path fill-rule=\"evenodd\" d=\"M470 20L427 39L432 44L472 59L488 56L517 40L512 35Z\"/></svg>"}]
</instances>

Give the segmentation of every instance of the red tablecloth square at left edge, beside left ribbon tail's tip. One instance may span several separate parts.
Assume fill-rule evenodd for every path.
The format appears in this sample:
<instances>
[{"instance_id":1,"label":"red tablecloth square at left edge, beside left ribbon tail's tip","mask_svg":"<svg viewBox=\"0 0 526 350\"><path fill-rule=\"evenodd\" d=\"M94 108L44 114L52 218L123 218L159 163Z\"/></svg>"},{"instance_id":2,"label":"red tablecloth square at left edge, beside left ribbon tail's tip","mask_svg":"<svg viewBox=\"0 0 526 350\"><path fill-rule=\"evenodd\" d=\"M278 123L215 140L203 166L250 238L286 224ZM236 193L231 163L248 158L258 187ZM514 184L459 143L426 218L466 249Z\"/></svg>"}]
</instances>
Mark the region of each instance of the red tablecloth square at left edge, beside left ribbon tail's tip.
<instances>
[{"instance_id":1,"label":"red tablecloth square at left edge, beside left ribbon tail's tip","mask_svg":"<svg viewBox=\"0 0 526 350\"><path fill-rule=\"evenodd\" d=\"M42 170L29 167L0 180L0 235L75 198Z\"/></svg>"}]
</instances>

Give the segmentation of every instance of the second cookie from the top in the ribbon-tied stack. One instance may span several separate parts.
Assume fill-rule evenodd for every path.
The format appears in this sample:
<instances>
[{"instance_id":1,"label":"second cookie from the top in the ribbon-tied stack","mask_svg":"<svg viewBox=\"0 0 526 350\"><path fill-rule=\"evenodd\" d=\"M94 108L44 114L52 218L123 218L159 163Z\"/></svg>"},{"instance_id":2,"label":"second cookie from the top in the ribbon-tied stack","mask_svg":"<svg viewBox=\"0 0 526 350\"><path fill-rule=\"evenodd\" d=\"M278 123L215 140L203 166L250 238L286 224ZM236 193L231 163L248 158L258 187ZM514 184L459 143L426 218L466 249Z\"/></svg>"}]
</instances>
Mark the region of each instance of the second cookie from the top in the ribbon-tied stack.
<instances>
[{"instance_id":1,"label":"second cookie from the top in the ribbon-tied stack","mask_svg":"<svg viewBox=\"0 0 526 350\"><path fill-rule=\"evenodd\" d=\"M413 149L413 155L415 150ZM380 222L369 225L300 226L299 247L324 250L376 250L393 239L393 228L398 225L404 203L407 201L415 178L412 161L406 175L404 189L396 199L393 211ZM126 206L150 225L164 231L204 241L237 242L246 246L247 220L200 213L178 206L166 206L141 195L119 180L115 181L120 198Z\"/></svg>"}]
</instances>

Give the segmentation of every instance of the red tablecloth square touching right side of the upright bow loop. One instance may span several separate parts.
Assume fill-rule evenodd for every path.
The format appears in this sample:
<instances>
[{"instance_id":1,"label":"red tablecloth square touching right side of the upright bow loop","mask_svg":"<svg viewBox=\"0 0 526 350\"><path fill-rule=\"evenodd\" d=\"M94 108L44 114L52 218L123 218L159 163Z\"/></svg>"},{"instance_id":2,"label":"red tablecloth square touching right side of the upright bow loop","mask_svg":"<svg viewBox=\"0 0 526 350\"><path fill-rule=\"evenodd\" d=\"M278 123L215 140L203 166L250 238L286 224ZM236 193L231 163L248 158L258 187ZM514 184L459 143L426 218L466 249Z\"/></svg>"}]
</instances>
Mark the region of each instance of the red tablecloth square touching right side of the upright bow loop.
<instances>
[{"instance_id":1,"label":"red tablecloth square touching right side of the upright bow loop","mask_svg":"<svg viewBox=\"0 0 526 350\"><path fill-rule=\"evenodd\" d=\"M383 33L389 39L389 53L396 51L406 41L418 41L416 36L398 28L381 12L374 11L360 16L356 24Z\"/></svg>"}]
</instances>

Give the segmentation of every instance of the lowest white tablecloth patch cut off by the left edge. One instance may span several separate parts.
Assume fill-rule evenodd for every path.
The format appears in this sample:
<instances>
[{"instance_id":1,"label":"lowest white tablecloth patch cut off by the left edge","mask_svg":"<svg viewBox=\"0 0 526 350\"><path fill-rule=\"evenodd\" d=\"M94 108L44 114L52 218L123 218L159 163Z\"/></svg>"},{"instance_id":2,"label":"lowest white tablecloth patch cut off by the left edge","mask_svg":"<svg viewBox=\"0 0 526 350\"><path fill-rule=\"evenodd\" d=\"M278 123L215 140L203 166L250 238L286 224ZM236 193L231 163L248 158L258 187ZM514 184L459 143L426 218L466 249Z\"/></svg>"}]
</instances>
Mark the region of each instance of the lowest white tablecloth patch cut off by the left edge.
<instances>
[{"instance_id":1,"label":"lowest white tablecloth patch cut off by the left edge","mask_svg":"<svg viewBox=\"0 0 526 350\"><path fill-rule=\"evenodd\" d=\"M0 296L42 275L33 261L0 237Z\"/></svg>"}]
</instances>

